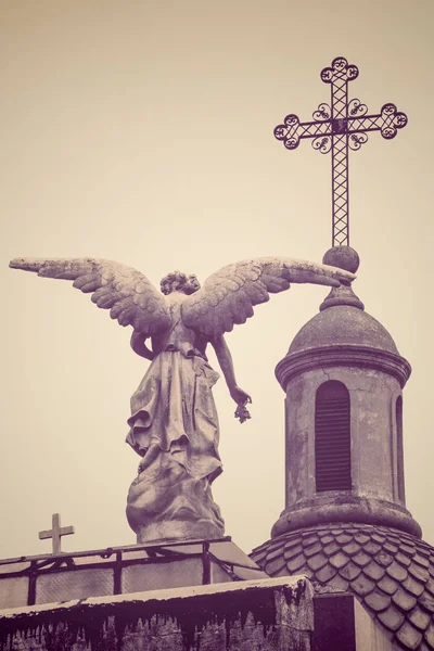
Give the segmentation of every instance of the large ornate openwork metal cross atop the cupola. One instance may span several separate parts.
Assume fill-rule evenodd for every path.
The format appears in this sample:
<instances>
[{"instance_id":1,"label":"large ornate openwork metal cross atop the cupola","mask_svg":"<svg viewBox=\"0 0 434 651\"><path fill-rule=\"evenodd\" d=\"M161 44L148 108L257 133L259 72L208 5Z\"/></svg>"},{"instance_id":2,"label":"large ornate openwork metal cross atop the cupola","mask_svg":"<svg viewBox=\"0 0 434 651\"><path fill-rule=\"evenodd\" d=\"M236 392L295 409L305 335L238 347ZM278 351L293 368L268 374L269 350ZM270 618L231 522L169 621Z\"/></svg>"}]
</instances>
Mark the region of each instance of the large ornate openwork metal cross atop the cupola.
<instances>
[{"instance_id":1,"label":"large ornate openwork metal cross atop the cupola","mask_svg":"<svg viewBox=\"0 0 434 651\"><path fill-rule=\"evenodd\" d=\"M314 120L301 123L291 113L278 125L275 136L286 149L296 149L302 138L311 138L312 148L322 154L332 152L332 246L349 245L348 222L348 148L359 150L368 140L368 131L381 131L392 140L407 124L407 115L398 113L395 104L384 104L376 115L367 115L368 106L360 100L348 102L348 81L356 79L359 69L343 56L321 71L321 79L331 86L331 105L319 104Z\"/></svg>"}]
</instances>

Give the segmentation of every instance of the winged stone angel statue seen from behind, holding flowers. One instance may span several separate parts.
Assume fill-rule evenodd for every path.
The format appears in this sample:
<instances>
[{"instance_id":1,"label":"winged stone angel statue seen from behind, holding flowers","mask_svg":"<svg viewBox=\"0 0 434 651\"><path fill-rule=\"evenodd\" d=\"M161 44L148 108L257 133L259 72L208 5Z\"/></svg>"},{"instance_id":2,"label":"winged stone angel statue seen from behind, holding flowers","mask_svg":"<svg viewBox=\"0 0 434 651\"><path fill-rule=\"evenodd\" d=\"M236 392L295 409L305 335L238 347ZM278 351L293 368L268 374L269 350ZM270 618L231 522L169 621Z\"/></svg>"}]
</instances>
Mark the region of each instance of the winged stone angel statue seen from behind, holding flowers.
<instances>
[{"instance_id":1,"label":"winged stone angel statue seen from behind, holding flowers","mask_svg":"<svg viewBox=\"0 0 434 651\"><path fill-rule=\"evenodd\" d=\"M219 538L224 521L210 485L221 473L219 427L212 387L218 374L206 357L210 344L235 416L250 418L251 397L237 384L224 333L253 316L253 307L291 283L339 286L354 276L342 269L283 257L243 260L213 273L203 288L180 271L161 281L125 265L93 258L15 258L14 269L73 280L131 326L131 347L151 365L131 398L127 442L141 457L127 499L127 518L138 542ZM146 340L151 340L150 347Z\"/></svg>"}]
</instances>

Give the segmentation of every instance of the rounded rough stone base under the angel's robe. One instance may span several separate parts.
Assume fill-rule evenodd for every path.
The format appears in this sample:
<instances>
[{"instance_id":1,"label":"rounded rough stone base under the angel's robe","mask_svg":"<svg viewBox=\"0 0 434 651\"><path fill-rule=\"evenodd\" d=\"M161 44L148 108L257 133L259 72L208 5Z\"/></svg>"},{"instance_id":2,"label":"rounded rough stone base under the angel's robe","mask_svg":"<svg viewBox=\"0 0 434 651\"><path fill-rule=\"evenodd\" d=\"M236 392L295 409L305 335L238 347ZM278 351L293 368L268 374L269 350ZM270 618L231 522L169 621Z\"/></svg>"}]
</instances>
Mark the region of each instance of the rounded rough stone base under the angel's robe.
<instances>
[{"instance_id":1,"label":"rounded rough stone base under the angel's robe","mask_svg":"<svg viewBox=\"0 0 434 651\"><path fill-rule=\"evenodd\" d=\"M225 535L209 480L192 477L170 457L146 468L132 482L127 519L138 542L209 540Z\"/></svg>"}]
</instances>

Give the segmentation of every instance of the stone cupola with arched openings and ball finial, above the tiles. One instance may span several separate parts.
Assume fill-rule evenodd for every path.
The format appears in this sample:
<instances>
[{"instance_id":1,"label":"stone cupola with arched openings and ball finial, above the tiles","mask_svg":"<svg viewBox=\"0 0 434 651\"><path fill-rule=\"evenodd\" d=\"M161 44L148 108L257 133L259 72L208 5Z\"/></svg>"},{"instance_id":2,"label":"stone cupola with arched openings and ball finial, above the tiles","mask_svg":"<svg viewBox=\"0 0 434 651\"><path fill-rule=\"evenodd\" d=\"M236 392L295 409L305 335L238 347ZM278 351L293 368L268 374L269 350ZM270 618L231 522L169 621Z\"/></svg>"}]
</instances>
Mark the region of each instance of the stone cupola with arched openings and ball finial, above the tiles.
<instances>
[{"instance_id":1,"label":"stone cupola with arched openings and ball finial, above the tiles","mask_svg":"<svg viewBox=\"0 0 434 651\"><path fill-rule=\"evenodd\" d=\"M330 250L323 261L358 268L349 247ZM421 536L405 508L403 388L410 372L352 288L333 289L276 369L286 394L286 476L273 536L324 521Z\"/></svg>"}]
</instances>

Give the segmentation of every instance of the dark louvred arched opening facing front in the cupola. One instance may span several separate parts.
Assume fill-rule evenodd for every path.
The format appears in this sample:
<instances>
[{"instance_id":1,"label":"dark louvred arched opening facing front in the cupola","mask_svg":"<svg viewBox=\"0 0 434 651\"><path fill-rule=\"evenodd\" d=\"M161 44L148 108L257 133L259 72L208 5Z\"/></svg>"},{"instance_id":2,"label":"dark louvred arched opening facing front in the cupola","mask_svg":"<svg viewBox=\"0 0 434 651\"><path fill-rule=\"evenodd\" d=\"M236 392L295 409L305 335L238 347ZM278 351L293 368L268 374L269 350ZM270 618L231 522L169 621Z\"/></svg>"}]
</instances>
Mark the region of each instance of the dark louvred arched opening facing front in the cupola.
<instances>
[{"instance_id":1,"label":"dark louvred arched opening facing front in the cupola","mask_svg":"<svg viewBox=\"0 0 434 651\"><path fill-rule=\"evenodd\" d=\"M329 380L315 400L315 480L317 492L352 489L349 393Z\"/></svg>"}]
</instances>

